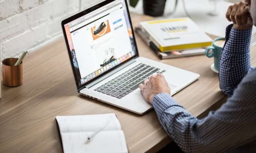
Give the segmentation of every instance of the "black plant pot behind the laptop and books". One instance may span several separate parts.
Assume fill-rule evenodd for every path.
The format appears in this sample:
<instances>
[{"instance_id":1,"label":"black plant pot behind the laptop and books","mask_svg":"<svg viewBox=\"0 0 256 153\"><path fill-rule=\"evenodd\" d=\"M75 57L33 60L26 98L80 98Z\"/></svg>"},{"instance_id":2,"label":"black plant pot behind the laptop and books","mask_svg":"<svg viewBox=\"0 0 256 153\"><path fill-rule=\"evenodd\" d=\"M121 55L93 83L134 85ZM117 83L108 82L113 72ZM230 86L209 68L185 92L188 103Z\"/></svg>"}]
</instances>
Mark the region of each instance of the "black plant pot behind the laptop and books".
<instances>
[{"instance_id":1,"label":"black plant pot behind the laptop and books","mask_svg":"<svg viewBox=\"0 0 256 153\"><path fill-rule=\"evenodd\" d=\"M162 16L166 0L143 0L144 14L149 16Z\"/></svg>"}]
</instances>

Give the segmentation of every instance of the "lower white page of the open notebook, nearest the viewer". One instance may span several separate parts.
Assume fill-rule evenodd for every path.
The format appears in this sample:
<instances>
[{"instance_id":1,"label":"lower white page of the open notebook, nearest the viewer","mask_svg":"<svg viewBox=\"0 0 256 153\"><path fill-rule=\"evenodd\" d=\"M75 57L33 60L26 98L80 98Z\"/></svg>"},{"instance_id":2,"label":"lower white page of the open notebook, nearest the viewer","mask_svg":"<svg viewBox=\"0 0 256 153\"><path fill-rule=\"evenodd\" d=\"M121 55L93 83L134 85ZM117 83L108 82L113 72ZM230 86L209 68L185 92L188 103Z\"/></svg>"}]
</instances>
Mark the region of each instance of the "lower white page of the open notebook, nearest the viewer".
<instances>
[{"instance_id":1,"label":"lower white page of the open notebook, nearest the viewer","mask_svg":"<svg viewBox=\"0 0 256 153\"><path fill-rule=\"evenodd\" d=\"M101 131L88 143L90 133L62 133L64 153L128 153L122 130Z\"/></svg>"}]
</instances>

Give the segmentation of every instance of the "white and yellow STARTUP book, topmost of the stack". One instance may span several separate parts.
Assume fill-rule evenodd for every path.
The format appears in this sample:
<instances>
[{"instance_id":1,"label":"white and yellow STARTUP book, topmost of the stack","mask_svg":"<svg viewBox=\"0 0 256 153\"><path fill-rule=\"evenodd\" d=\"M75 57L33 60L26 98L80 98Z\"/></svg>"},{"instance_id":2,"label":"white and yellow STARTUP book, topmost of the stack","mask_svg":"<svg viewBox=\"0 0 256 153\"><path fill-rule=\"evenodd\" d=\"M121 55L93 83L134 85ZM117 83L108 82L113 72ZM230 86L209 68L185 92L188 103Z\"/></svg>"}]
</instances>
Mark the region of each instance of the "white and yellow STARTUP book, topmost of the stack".
<instances>
[{"instance_id":1,"label":"white and yellow STARTUP book, topmost of the stack","mask_svg":"<svg viewBox=\"0 0 256 153\"><path fill-rule=\"evenodd\" d=\"M202 48L213 41L190 18L145 21L139 28L161 52Z\"/></svg>"}]
</instances>

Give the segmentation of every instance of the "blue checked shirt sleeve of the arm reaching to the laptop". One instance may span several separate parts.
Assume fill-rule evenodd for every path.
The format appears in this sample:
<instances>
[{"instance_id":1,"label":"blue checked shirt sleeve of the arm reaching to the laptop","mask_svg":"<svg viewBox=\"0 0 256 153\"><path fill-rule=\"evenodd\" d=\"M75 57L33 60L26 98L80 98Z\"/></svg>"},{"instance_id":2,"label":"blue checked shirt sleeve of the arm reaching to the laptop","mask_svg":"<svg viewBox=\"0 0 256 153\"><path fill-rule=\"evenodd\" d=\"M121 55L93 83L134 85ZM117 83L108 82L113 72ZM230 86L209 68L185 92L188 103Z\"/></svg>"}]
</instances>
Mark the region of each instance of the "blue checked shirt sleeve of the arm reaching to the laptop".
<instances>
[{"instance_id":1,"label":"blue checked shirt sleeve of the arm reaching to the laptop","mask_svg":"<svg viewBox=\"0 0 256 153\"><path fill-rule=\"evenodd\" d=\"M242 88L244 87L240 87ZM183 151L220 152L239 146L250 139L250 135L247 135L248 130L256 133L255 128L251 128L255 127L252 125L256 123L254 122L255 113L250 110L251 107L255 107L255 94L252 94L254 91L250 90L248 93L245 90L236 91L244 95L244 99L240 98L238 101L238 93L234 92L233 97L228 99L219 110L210 112L203 119L197 119L191 115L165 93L157 94L153 98L153 107L164 130ZM245 101L252 105L245 107ZM233 137L237 135L240 135L240 138L234 139Z\"/></svg>"}]
</instances>

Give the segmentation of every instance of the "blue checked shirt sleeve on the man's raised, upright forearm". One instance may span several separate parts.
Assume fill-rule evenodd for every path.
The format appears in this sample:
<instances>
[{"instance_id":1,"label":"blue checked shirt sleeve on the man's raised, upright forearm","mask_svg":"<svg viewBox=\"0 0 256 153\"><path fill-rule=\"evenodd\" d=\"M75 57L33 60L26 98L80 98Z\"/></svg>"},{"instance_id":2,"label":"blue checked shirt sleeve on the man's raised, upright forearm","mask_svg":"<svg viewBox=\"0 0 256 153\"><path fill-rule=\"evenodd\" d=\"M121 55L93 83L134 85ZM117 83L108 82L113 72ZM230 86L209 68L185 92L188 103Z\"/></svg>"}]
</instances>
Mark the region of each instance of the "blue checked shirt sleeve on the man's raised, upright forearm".
<instances>
[{"instance_id":1,"label":"blue checked shirt sleeve on the man's raised, upright forearm","mask_svg":"<svg viewBox=\"0 0 256 153\"><path fill-rule=\"evenodd\" d=\"M219 63L219 86L227 95L233 94L242 78L251 70L251 32L252 29L234 29L233 25L226 28L226 43Z\"/></svg>"}]
</instances>

